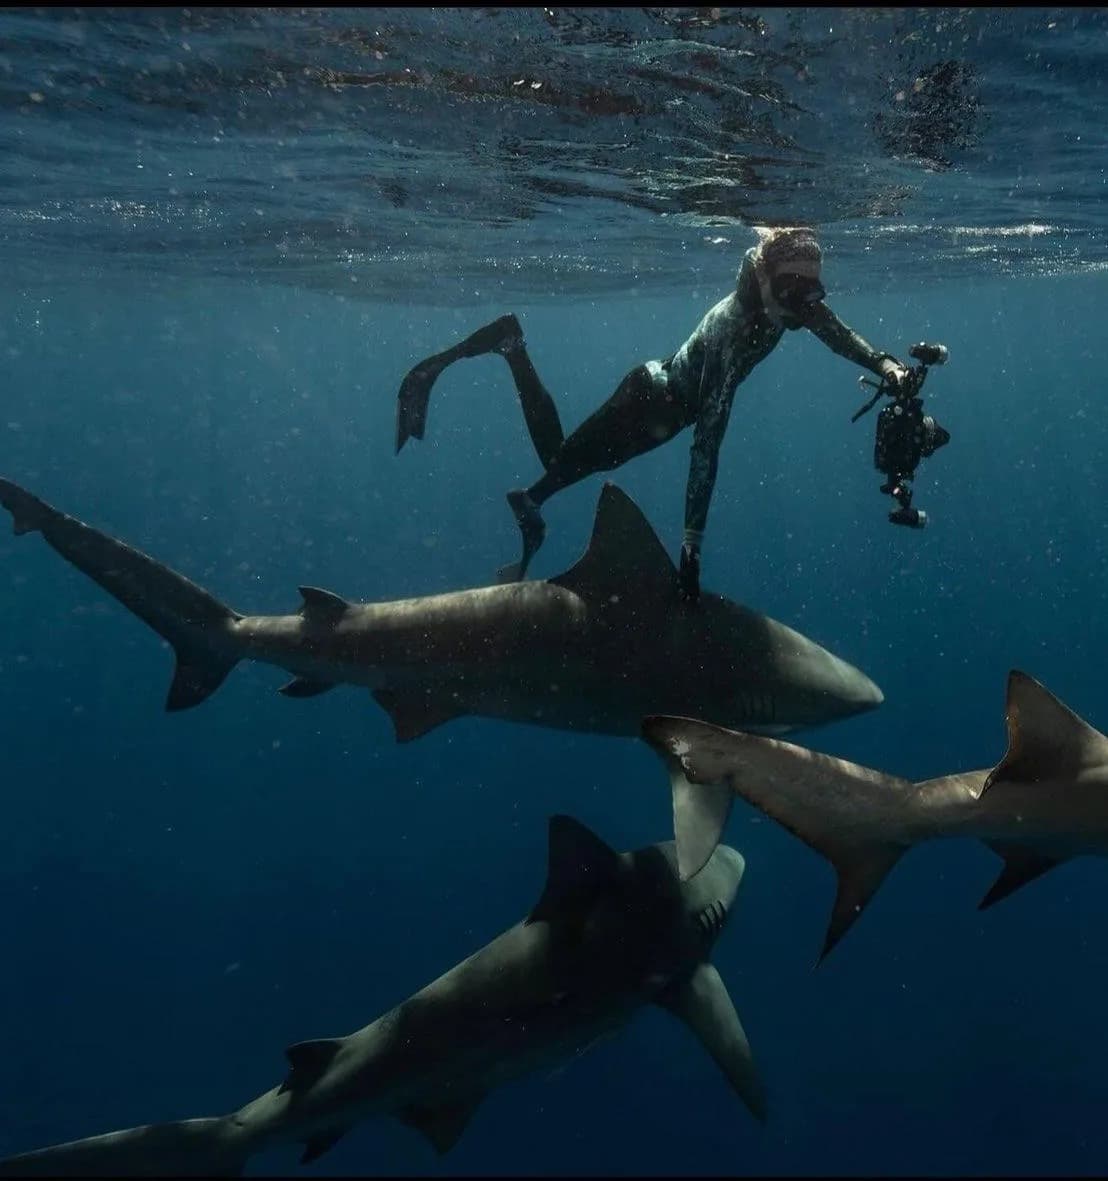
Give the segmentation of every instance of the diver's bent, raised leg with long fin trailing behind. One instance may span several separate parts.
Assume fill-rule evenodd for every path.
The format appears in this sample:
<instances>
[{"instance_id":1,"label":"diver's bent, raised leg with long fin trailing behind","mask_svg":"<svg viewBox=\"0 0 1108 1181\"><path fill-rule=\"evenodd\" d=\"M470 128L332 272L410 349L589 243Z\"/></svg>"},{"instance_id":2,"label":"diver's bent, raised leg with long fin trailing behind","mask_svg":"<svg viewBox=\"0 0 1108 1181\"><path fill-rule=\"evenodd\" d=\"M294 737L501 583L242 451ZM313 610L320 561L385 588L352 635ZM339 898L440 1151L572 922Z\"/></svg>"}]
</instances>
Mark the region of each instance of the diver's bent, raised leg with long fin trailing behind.
<instances>
[{"instance_id":1,"label":"diver's bent, raised leg with long fin trailing behind","mask_svg":"<svg viewBox=\"0 0 1108 1181\"><path fill-rule=\"evenodd\" d=\"M508 361L532 443L542 465L546 466L549 463L550 456L561 446L561 423L558 418L554 399L547 392L535 372L535 366L532 365L530 358L527 355L520 321L511 314L502 315L498 320L487 324L454 347L424 358L409 371L400 385L398 399L397 451L404 446L409 438L423 438L431 386L438 374L448 365L452 365L464 357L483 357L485 353L500 353Z\"/></svg>"}]
</instances>

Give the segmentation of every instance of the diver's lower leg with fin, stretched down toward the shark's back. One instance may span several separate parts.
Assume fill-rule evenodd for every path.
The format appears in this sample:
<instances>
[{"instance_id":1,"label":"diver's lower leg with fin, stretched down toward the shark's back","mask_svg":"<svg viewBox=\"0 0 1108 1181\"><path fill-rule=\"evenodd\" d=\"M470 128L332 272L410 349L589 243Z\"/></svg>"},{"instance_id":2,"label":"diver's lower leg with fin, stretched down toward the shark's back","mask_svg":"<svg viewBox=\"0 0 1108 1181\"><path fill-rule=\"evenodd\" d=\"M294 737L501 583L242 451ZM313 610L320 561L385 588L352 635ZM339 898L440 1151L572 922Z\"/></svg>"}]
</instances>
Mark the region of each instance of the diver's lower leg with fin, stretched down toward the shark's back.
<instances>
[{"instance_id":1,"label":"diver's lower leg with fin, stretched down toward the shark's back","mask_svg":"<svg viewBox=\"0 0 1108 1181\"><path fill-rule=\"evenodd\" d=\"M689 425L685 407L645 365L633 368L615 393L562 443L530 488L514 488L508 504L523 541L519 562L500 570L501 582L523 578L546 540L541 505L555 492L597 471L611 471L673 438Z\"/></svg>"}]
</instances>

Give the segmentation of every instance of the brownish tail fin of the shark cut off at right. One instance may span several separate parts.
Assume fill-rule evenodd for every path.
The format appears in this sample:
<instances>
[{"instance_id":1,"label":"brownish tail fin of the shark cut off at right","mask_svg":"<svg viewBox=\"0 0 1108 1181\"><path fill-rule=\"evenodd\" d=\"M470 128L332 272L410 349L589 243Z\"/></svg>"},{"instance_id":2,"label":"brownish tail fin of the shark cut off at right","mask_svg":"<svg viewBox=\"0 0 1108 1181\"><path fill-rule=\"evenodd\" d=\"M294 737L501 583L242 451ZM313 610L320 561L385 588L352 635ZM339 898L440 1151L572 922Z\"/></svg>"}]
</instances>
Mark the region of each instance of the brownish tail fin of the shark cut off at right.
<instances>
[{"instance_id":1,"label":"brownish tail fin of the shark cut off at right","mask_svg":"<svg viewBox=\"0 0 1108 1181\"><path fill-rule=\"evenodd\" d=\"M646 718L643 737L670 771L683 879L711 856L731 794L760 808L834 866L839 889L821 960L907 848L904 811L915 791L907 779L690 718Z\"/></svg>"}]
</instances>

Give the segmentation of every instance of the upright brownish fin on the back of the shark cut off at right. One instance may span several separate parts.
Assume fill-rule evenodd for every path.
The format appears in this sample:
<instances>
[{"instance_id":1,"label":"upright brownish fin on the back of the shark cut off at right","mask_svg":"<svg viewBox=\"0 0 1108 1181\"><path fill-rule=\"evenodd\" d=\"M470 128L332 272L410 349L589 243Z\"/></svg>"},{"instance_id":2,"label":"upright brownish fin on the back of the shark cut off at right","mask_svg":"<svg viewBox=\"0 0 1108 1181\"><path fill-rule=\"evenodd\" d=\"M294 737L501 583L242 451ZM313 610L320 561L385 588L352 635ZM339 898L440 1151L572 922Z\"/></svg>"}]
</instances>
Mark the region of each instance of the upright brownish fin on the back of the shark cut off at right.
<instances>
[{"instance_id":1,"label":"upright brownish fin on the back of the shark cut off at right","mask_svg":"<svg viewBox=\"0 0 1108 1181\"><path fill-rule=\"evenodd\" d=\"M1108 738L1063 705L1034 677L1008 677L1008 753L989 772L982 792L1004 779L1037 783L1073 778L1108 762Z\"/></svg>"}]
</instances>

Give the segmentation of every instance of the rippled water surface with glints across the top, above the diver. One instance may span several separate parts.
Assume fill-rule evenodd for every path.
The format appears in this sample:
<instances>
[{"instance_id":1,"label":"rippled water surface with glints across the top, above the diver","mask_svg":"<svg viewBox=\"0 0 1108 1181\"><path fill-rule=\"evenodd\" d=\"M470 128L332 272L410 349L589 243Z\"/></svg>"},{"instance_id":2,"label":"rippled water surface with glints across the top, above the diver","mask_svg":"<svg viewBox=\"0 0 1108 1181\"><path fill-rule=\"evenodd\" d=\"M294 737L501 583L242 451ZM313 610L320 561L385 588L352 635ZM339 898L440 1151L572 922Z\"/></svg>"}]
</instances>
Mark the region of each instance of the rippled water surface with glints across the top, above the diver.
<instances>
[{"instance_id":1,"label":"rippled water surface with glints across the top, above the diver","mask_svg":"<svg viewBox=\"0 0 1108 1181\"><path fill-rule=\"evenodd\" d=\"M0 242L24 283L448 304L663 288L754 222L821 226L840 286L1100 268L1106 34L1103 8L7 9Z\"/></svg>"}]
</instances>

